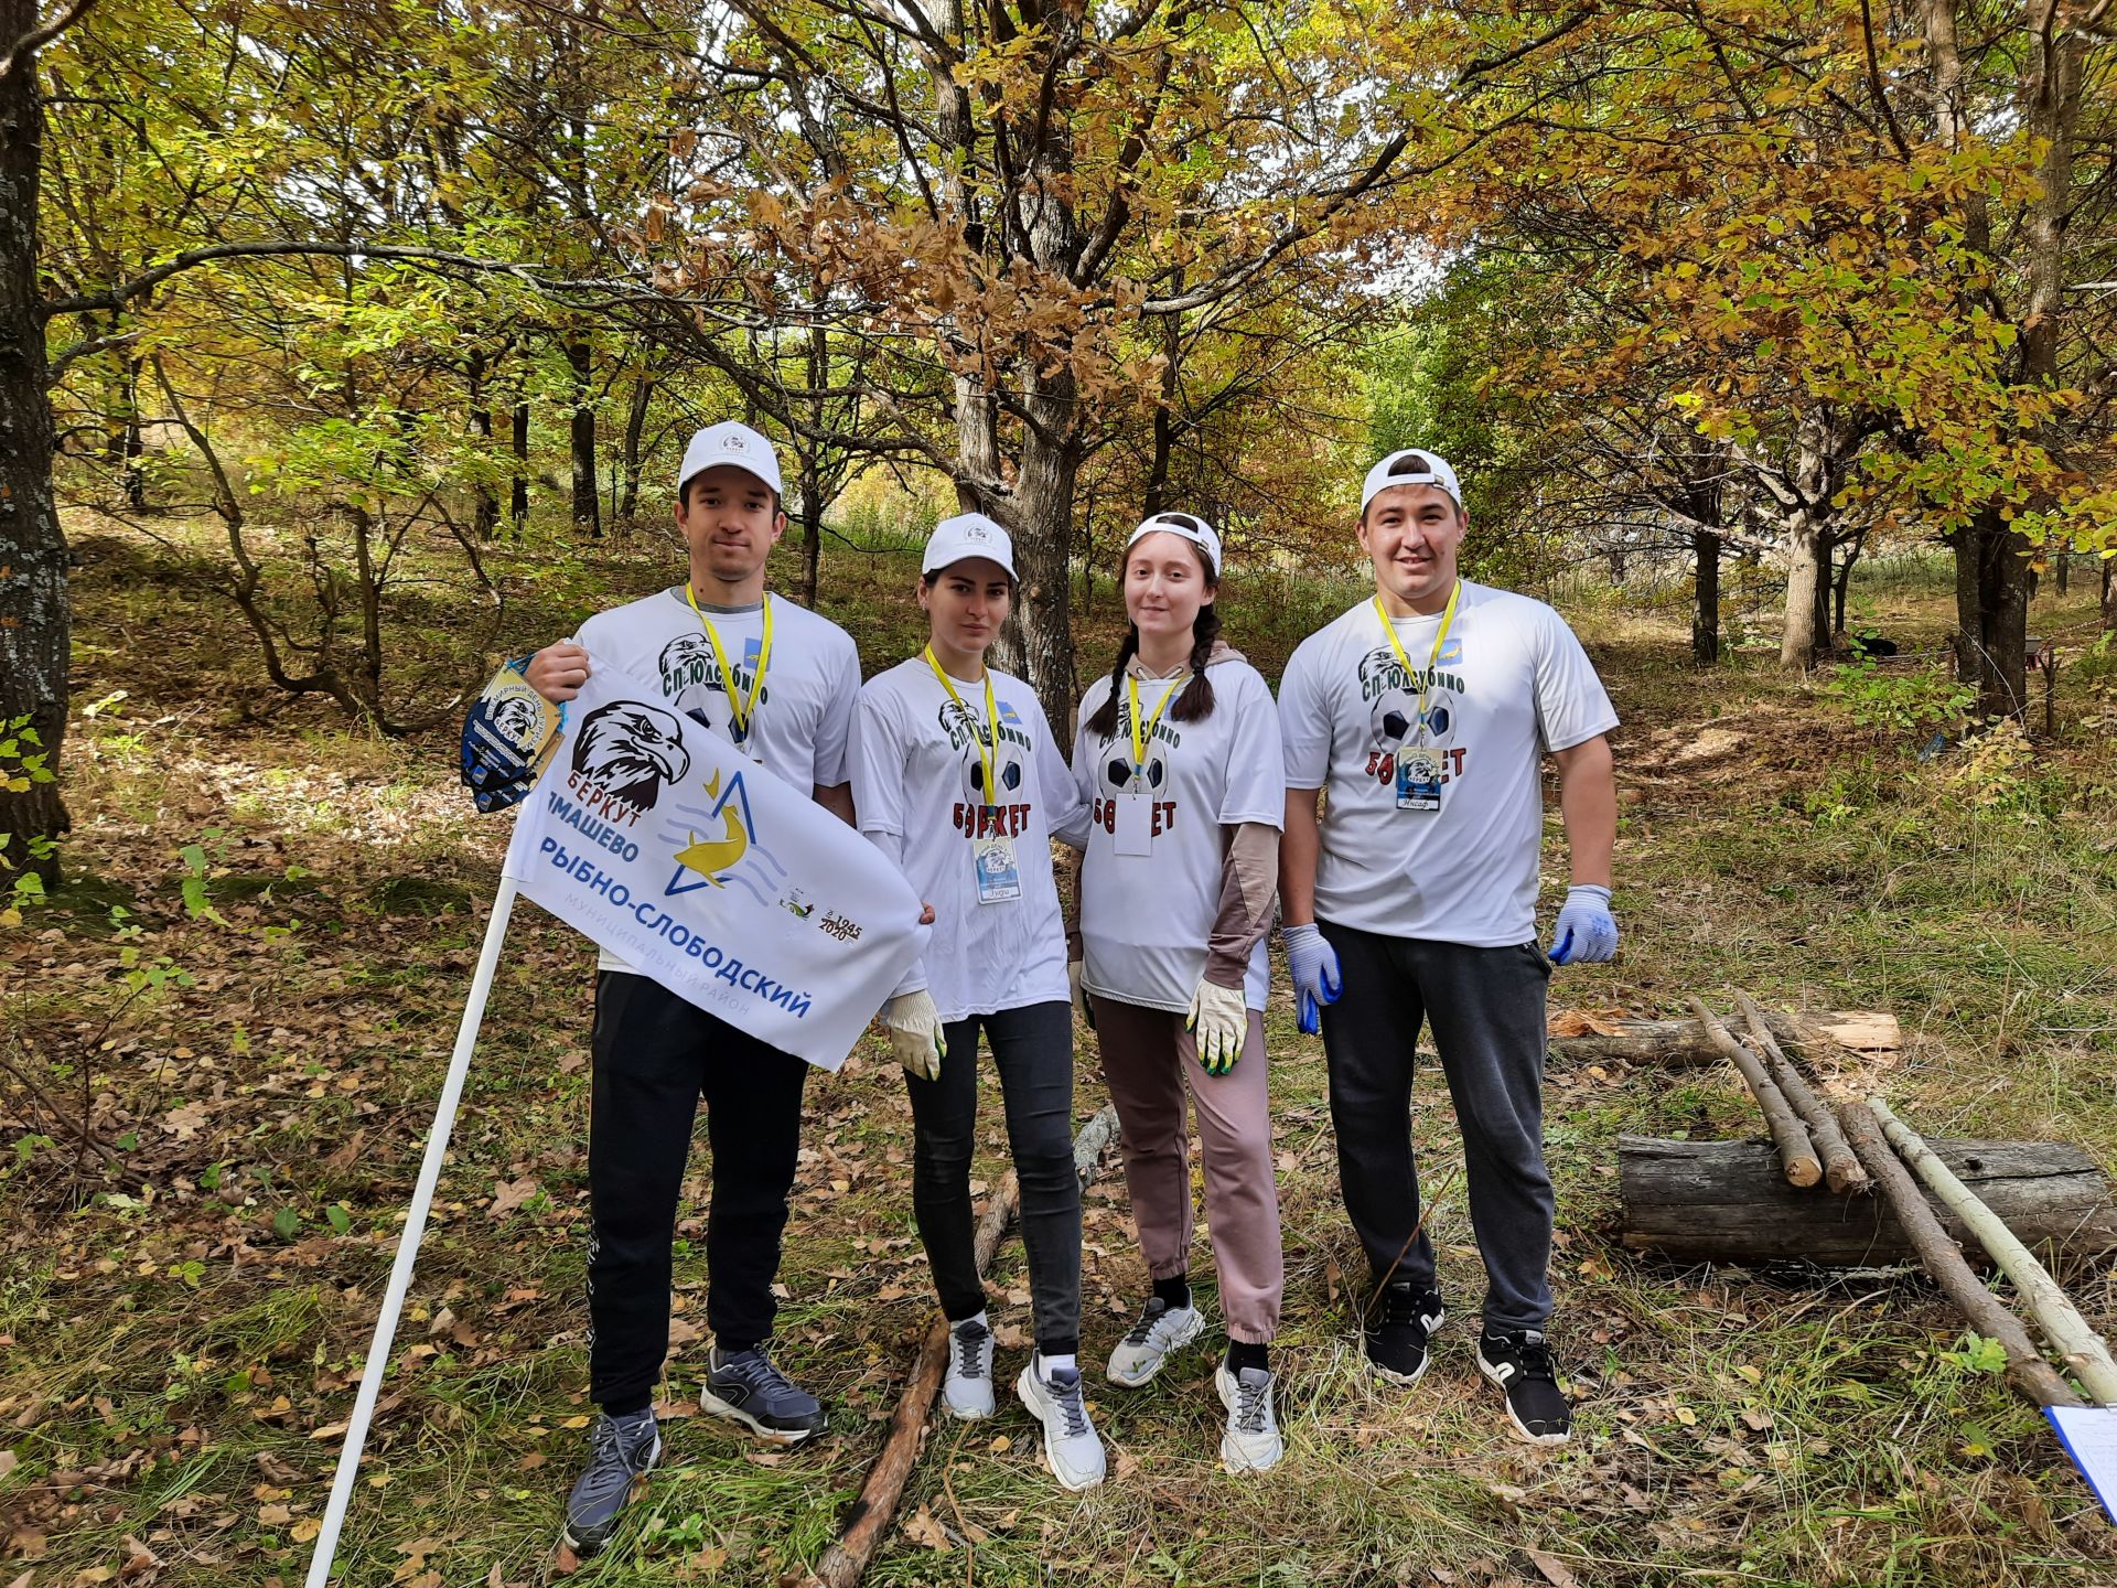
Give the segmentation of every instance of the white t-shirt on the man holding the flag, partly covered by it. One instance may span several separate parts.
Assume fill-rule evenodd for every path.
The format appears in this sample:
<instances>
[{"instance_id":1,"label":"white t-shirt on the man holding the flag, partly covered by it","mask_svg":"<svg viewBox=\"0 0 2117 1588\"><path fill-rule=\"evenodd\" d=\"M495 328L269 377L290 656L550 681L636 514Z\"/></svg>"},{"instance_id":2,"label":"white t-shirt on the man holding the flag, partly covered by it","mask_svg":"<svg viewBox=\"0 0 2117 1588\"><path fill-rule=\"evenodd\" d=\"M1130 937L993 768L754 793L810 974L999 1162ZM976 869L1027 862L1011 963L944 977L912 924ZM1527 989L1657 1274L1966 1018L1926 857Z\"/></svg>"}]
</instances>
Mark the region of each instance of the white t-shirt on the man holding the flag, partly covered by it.
<instances>
[{"instance_id":1,"label":"white t-shirt on the man holding the flag, partly covered by it","mask_svg":"<svg viewBox=\"0 0 2117 1588\"><path fill-rule=\"evenodd\" d=\"M724 612L701 606L701 612L713 620L735 688L747 703L764 646L764 608ZM658 688L669 705L752 754L779 781L804 794L847 781L860 650L830 618L773 597L773 654L743 739L735 735L713 642L705 637L682 584L597 612L580 625L574 644L586 648L591 669L614 667ZM599 970L631 970L610 951L597 953L595 963Z\"/></svg>"}]
</instances>

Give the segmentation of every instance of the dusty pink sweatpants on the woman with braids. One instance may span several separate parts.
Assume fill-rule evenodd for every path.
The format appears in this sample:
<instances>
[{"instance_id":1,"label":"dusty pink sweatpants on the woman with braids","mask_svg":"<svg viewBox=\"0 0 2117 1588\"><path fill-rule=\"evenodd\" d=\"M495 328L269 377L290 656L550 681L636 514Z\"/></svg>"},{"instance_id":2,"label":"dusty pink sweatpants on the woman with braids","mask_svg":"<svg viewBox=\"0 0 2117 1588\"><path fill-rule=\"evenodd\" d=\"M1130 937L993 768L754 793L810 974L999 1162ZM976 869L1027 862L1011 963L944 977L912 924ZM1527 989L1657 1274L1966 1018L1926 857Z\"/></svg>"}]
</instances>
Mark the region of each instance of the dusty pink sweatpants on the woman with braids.
<instances>
[{"instance_id":1,"label":"dusty pink sweatpants on the woman with braids","mask_svg":"<svg viewBox=\"0 0 2117 1588\"><path fill-rule=\"evenodd\" d=\"M1279 1332L1285 1266L1279 1253L1279 1186L1272 1179L1264 1016L1249 1012L1236 1067L1209 1076L1181 1014L1090 997L1147 1273L1173 1279L1190 1268L1190 1133L1183 1124L1183 1093L1190 1090L1205 1150L1205 1213L1228 1338L1268 1345Z\"/></svg>"}]
</instances>

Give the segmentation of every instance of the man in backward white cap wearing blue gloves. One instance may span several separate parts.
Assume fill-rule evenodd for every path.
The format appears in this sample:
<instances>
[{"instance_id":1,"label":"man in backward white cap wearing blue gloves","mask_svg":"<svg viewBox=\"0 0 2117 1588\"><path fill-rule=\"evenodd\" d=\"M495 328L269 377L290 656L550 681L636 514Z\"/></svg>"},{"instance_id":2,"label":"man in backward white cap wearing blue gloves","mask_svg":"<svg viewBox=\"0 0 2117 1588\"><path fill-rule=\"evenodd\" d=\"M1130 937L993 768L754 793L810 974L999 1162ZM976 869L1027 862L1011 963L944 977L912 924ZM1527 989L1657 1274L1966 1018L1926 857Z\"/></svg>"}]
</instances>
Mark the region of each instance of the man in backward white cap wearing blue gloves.
<instances>
[{"instance_id":1,"label":"man in backward white cap wearing blue gloves","mask_svg":"<svg viewBox=\"0 0 2117 1588\"><path fill-rule=\"evenodd\" d=\"M1456 576L1467 527L1444 457L1397 451L1368 472L1359 544L1374 597L1304 639L1279 688L1279 896L1302 1029L1321 1016L1338 1177L1372 1268L1368 1361L1416 1383L1446 1317L1410 1137L1412 1050L1431 1021L1488 1279L1478 1368L1505 1391L1516 1433L1564 1444L1573 1408L1545 1340L1543 993L1552 963L1617 951L1605 737L1617 714L1564 618ZM1573 851L1548 951L1535 938L1545 754Z\"/></svg>"}]
</instances>

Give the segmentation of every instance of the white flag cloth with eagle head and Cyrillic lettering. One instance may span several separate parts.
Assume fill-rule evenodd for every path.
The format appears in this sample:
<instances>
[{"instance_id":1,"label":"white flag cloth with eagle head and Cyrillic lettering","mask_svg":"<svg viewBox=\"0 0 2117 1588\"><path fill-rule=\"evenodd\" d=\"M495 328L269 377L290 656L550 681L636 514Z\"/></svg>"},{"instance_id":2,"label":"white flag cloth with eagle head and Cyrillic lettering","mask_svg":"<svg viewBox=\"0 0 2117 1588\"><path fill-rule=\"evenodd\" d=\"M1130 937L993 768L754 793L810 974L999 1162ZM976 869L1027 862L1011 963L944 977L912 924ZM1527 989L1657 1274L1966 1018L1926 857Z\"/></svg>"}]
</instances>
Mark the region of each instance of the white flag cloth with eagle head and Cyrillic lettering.
<instances>
[{"instance_id":1,"label":"white flag cloth with eagle head and Cyrillic lettering","mask_svg":"<svg viewBox=\"0 0 2117 1588\"><path fill-rule=\"evenodd\" d=\"M671 993L821 1069L925 951L883 853L658 690L597 665L506 874Z\"/></svg>"}]
</instances>

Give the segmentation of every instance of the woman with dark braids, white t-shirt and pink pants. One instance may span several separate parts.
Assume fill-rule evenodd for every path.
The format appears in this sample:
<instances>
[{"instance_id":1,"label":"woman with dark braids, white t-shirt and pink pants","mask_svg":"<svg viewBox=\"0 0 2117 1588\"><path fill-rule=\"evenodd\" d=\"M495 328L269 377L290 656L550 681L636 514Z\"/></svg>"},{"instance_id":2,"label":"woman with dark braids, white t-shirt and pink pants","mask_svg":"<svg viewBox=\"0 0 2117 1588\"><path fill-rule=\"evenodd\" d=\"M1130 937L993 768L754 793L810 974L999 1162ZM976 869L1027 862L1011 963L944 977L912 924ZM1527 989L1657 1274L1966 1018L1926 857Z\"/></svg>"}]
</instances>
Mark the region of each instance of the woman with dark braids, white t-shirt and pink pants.
<instances>
[{"instance_id":1,"label":"woman with dark braids, white t-shirt and pink pants","mask_svg":"<svg viewBox=\"0 0 2117 1588\"><path fill-rule=\"evenodd\" d=\"M1205 1148L1205 1203L1228 1353L1228 1472L1283 1444L1268 1347L1279 1328L1279 1188L1264 1063L1264 936L1272 925L1285 769L1257 669L1219 637L1219 536L1188 512L1133 531L1133 627L1080 703L1073 777L1090 802L1073 995L1118 1105L1124 1177L1154 1294L1109 1355L1137 1389L1200 1330L1186 1093Z\"/></svg>"}]
</instances>

